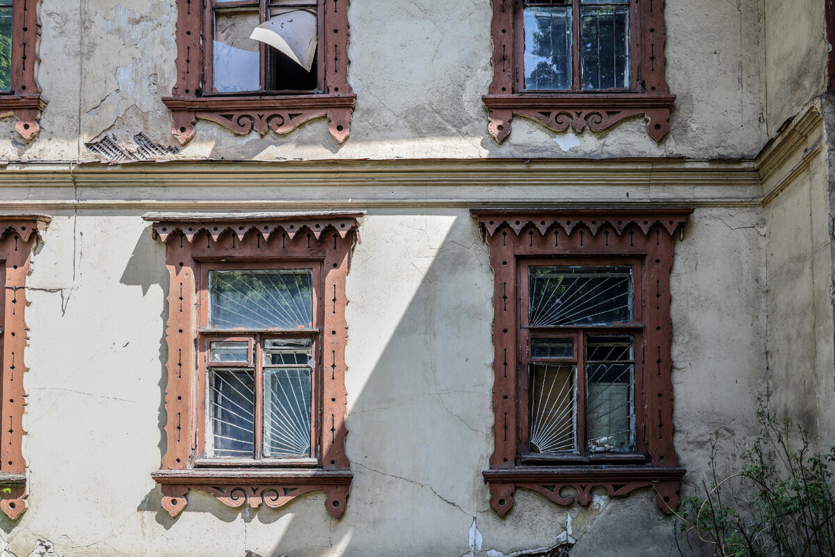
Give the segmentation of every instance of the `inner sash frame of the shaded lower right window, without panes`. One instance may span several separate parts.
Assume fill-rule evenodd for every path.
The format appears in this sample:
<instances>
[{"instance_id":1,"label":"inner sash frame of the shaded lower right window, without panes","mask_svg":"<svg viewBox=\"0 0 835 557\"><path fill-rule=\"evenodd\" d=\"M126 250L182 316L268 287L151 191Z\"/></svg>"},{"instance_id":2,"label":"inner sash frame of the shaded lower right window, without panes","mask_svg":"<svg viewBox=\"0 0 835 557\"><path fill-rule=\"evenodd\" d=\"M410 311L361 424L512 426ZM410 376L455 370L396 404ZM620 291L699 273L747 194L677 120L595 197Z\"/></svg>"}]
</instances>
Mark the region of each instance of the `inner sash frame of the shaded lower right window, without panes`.
<instances>
[{"instance_id":1,"label":"inner sash frame of the shaded lower right window, without panes","mask_svg":"<svg viewBox=\"0 0 835 557\"><path fill-rule=\"evenodd\" d=\"M595 325L552 325L532 326L529 324L529 270L531 267L615 267L629 266L632 271L632 321ZM533 393L530 387L531 365L537 363L573 363L576 367L576 382L574 384L574 410L576 413L575 445L577 452L573 453L531 453L529 450L530 431L530 405L529 397L519 398L519 463L645 463L643 441L637 433L642 430L643 422L640 413L635 412L635 451L630 453L589 453L587 448L587 432L585 424L587 420L586 406L588 398L588 385L585 366L585 339L590 336L600 335L630 335L633 337L634 377L633 382L633 406L642 408L641 392L643 387L643 361L638 356L641 353L642 331L644 323L641 310L644 306L641 298L640 279L642 268L640 259L635 258L598 258L576 259L573 257L559 257L554 259L519 259L517 263L519 270L519 392ZM571 338L574 345L574 356L572 358L534 358L531 353L531 342L540 338ZM529 395L530 396L530 395Z\"/></svg>"}]
</instances>

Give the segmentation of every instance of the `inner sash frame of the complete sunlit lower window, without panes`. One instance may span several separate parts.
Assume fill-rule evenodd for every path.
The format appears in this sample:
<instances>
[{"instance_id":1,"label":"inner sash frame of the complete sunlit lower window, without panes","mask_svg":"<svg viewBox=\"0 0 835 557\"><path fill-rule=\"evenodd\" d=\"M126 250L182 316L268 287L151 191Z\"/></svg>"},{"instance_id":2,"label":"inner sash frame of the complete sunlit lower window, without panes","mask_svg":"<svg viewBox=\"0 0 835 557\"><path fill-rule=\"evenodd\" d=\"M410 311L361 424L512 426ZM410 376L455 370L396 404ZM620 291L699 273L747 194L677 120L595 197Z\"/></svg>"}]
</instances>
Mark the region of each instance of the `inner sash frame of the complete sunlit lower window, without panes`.
<instances>
[{"instance_id":1,"label":"inner sash frame of the complete sunlit lower window, without panes","mask_svg":"<svg viewBox=\"0 0 835 557\"><path fill-rule=\"evenodd\" d=\"M321 322L324 309L321 297L321 262L320 261L291 261L291 262L200 262L198 290L198 329L197 329L197 350L198 350L198 372L197 392L198 402L196 405L197 415L197 450L195 466L273 466L273 467L316 467L321 466ZM210 327L210 285L209 274L211 271L311 271L312 286L312 319L311 327L305 329L245 329L245 328L212 328ZM262 455L263 452L263 408L265 404L265 368L264 346L266 340L274 338L306 338L312 341L311 361L311 454L306 458L270 458ZM243 342L247 341L249 346L248 362L211 362L211 342ZM307 366L298 366L307 367ZM212 368L235 368L240 370L251 370L255 378L255 412L254 412L254 455L249 457L221 457L210 454L209 441L211 438L212 424L210 418L209 402L209 377Z\"/></svg>"}]
</instances>

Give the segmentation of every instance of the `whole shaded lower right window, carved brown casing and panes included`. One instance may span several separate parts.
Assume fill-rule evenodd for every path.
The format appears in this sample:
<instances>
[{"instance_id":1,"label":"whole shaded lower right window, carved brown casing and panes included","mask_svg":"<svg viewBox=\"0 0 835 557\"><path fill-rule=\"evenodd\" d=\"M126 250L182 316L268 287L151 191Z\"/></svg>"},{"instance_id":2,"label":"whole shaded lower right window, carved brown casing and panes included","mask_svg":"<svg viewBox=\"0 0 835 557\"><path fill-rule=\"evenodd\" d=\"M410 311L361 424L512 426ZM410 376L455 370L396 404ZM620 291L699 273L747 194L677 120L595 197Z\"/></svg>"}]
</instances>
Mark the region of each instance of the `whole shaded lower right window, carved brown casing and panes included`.
<instances>
[{"instance_id":1,"label":"whole shaded lower right window, carved brown casing and panes included","mask_svg":"<svg viewBox=\"0 0 835 557\"><path fill-rule=\"evenodd\" d=\"M595 487L652 487L678 504L670 271L691 212L473 210L495 275L483 476L498 514L516 488L586 505Z\"/></svg>"}]
</instances>

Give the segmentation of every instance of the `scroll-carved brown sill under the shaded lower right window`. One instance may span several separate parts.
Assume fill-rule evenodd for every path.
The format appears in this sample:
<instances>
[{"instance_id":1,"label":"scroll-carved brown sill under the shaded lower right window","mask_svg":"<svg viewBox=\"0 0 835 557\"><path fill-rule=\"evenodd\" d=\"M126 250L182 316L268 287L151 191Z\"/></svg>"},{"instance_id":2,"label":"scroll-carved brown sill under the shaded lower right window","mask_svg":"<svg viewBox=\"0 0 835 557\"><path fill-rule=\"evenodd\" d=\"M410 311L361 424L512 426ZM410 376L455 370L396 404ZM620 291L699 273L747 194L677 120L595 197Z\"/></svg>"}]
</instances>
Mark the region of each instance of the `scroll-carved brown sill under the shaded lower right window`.
<instances>
[{"instance_id":1,"label":"scroll-carved brown sill under the shaded lower right window","mask_svg":"<svg viewBox=\"0 0 835 557\"><path fill-rule=\"evenodd\" d=\"M679 503L679 488L686 470L678 467L635 465L589 466L517 466L491 468L483 471L484 481L490 484L490 506L501 516L514 505L514 490L535 491L556 504L569 505L575 501L583 506L591 503L592 489L604 488L610 497L620 497L640 488L655 489L655 504L666 514ZM573 489L576 494L563 494Z\"/></svg>"}]
</instances>

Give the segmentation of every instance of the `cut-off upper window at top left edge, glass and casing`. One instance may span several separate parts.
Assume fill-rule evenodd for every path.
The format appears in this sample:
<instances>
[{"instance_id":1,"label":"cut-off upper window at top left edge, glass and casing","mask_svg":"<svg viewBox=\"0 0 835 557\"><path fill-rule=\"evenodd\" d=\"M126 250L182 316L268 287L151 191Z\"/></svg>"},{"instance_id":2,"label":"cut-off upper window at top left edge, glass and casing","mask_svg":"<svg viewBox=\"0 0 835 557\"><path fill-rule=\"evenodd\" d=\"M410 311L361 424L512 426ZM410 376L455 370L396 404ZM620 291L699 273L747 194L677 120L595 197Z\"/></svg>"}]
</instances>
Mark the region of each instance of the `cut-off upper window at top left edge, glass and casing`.
<instances>
[{"instance_id":1,"label":"cut-off upper window at top left edge, glass and casing","mask_svg":"<svg viewBox=\"0 0 835 557\"><path fill-rule=\"evenodd\" d=\"M23 139L40 131L38 120L46 107L35 84L40 26L37 0L0 0L0 115L18 119L15 129Z\"/></svg>"}]
</instances>

